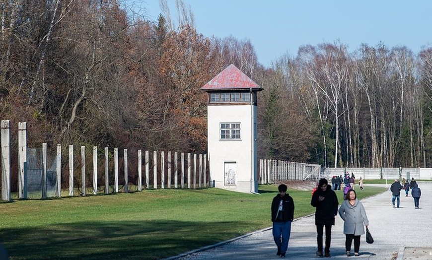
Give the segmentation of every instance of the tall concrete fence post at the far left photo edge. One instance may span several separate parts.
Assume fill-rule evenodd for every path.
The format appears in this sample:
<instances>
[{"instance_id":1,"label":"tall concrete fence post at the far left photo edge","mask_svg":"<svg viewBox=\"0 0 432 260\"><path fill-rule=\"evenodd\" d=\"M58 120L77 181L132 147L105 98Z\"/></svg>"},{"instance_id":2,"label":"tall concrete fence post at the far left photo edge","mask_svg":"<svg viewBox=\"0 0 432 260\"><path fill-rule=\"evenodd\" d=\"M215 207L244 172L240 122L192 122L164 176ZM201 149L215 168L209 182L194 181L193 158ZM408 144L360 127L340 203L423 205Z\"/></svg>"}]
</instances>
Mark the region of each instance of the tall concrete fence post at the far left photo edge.
<instances>
[{"instance_id":1,"label":"tall concrete fence post at the far left photo edge","mask_svg":"<svg viewBox=\"0 0 432 260\"><path fill-rule=\"evenodd\" d=\"M1 120L1 200L10 200L10 122Z\"/></svg>"}]
</instances>

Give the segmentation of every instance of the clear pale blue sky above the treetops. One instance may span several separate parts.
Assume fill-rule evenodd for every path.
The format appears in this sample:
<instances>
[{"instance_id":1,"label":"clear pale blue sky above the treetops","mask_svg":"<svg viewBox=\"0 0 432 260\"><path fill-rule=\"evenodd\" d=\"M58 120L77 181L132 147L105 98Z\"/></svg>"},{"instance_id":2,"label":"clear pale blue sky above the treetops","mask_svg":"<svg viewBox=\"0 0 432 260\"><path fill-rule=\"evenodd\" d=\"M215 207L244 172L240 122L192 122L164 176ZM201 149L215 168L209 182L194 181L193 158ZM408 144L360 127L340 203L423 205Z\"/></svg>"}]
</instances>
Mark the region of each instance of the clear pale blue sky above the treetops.
<instances>
[{"instance_id":1,"label":"clear pale blue sky above the treetops","mask_svg":"<svg viewBox=\"0 0 432 260\"><path fill-rule=\"evenodd\" d=\"M177 17L175 0L170 4ZM432 0L183 0L190 5L198 32L208 37L250 39L259 62L296 56L305 44L340 41L350 51L380 41L388 48L407 46L415 54L432 46ZM159 0L139 2L156 20Z\"/></svg>"}]
</instances>

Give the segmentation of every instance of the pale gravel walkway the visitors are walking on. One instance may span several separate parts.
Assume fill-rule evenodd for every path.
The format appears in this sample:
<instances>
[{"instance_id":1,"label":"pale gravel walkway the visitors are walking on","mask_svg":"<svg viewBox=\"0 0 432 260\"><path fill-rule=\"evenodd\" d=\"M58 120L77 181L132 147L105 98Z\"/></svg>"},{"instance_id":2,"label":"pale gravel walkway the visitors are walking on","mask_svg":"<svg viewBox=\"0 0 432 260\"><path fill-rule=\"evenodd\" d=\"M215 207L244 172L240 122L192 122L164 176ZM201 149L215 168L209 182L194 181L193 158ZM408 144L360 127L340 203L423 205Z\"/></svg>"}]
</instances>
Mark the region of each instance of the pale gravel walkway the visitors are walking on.
<instances>
[{"instance_id":1,"label":"pale gravel walkway the visitors are walking on","mask_svg":"<svg viewBox=\"0 0 432 260\"><path fill-rule=\"evenodd\" d=\"M360 257L355 259L371 260L431 260L432 259L432 183L419 183L422 190L420 209L414 208L414 200L401 191L401 208L393 208L391 193L385 192L362 199L369 230L375 240L366 244L361 236ZM289 187L288 187L289 189ZM365 185L367 189L367 185ZM294 198L295 201L295 198ZM354 245L353 245L354 246ZM276 256L271 228L254 232L234 239L228 243L219 243L216 247L198 250L186 256L170 259L178 260L272 260ZM296 219L292 223L287 258L316 260L316 228L314 216ZM346 259L343 220L337 216L332 229L332 259Z\"/></svg>"}]
</instances>

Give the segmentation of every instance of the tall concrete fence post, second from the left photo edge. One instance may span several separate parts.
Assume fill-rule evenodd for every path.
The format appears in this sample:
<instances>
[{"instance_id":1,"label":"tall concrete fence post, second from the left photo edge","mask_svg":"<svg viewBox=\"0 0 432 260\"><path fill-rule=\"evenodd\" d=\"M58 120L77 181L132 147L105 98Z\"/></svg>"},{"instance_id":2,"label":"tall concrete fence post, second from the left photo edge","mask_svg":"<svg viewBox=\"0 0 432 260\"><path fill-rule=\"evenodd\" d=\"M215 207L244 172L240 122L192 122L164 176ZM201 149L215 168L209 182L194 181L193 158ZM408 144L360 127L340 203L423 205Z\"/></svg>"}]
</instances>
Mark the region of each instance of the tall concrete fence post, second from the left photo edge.
<instances>
[{"instance_id":1,"label":"tall concrete fence post, second from the left photo edge","mask_svg":"<svg viewBox=\"0 0 432 260\"><path fill-rule=\"evenodd\" d=\"M18 123L18 197L27 198L24 194L24 163L27 161L27 123Z\"/></svg>"}]
</instances>

